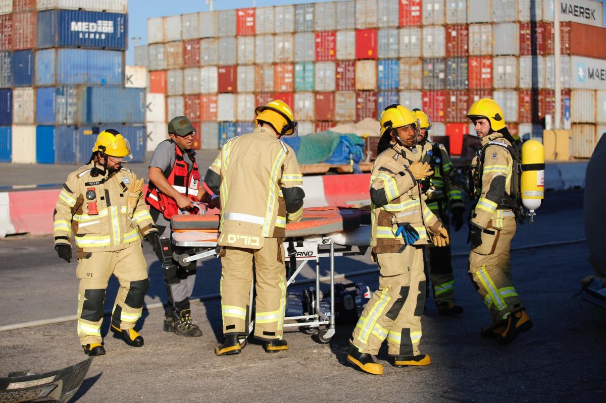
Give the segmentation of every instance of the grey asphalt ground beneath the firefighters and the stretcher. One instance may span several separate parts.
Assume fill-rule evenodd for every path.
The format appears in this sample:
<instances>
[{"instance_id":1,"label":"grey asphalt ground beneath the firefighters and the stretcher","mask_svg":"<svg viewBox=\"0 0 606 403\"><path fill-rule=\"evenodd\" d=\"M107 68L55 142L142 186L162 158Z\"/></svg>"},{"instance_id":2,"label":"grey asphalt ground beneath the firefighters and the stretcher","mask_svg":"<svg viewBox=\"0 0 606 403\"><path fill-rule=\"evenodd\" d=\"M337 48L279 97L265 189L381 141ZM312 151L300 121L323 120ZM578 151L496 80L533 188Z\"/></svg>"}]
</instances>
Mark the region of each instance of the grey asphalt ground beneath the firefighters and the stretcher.
<instances>
[{"instance_id":1,"label":"grey asphalt ground beneath the firefighters and the stretcher","mask_svg":"<svg viewBox=\"0 0 606 403\"><path fill-rule=\"evenodd\" d=\"M428 300L421 340L421 351L431 355L428 367L393 367L385 350L378 356L384 375L351 367L346 357L353 325L338 326L328 344L291 330L285 335L287 352L267 354L253 341L241 355L217 357L213 349L222 337L215 298L193 303L201 338L163 332L162 309L144 311L137 326L145 338L140 349L107 335L107 355L93 359L72 402L606 401L606 325L596 320L593 306L571 298L579 280L592 274L580 241L582 191L548 193L537 223L518 227L511 253L514 285L534 327L507 346L479 336L490 319L466 273L465 238L464 231L453 235L456 297L465 312L457 318L439 316ZM0 240L0 326L76 313L76 264L59 260L52 244L47 236ZM532 247L537 244L552 246ZM150 247L145 245L144 252L151 280L145 303L150 305L166 296L159 264ZM336 273L376 289L376 274L347 276L375 267L368 254L335 262ZM326 264L323 260L322 275L328 272ZM194 295L218 293L219 276L218 259L200 263ZM303 277L313 277L311 270L304 270ZM112 279L106 309L112 307L116 284ZM55 370L84 358L76 321L0 332L0 376Z\"/></svg>"}]
</instances>

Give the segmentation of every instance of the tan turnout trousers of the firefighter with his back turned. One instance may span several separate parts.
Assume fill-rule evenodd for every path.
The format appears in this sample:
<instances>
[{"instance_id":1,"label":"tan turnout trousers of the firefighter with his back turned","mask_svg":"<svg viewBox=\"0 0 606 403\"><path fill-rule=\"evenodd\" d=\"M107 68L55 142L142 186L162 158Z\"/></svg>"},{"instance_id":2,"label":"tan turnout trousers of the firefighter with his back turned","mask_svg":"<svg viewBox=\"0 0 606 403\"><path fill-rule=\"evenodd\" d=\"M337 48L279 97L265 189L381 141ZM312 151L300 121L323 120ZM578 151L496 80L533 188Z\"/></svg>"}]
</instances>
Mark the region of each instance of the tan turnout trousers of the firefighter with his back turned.
<instances>
[{"instance_id":1,"label":"tan turnout trousers of the firefighter with his back turned","mask_svg":"<svg viewBox=\"0 0 606 403\"><path fill-rule=\"evenodd\" d=\"M248 335L250 289L255 262L255 338L282 339L286 311L286 266L281 238L265 238L261 249L221 249L223 334Z\"/></svg>"}]
</instances>

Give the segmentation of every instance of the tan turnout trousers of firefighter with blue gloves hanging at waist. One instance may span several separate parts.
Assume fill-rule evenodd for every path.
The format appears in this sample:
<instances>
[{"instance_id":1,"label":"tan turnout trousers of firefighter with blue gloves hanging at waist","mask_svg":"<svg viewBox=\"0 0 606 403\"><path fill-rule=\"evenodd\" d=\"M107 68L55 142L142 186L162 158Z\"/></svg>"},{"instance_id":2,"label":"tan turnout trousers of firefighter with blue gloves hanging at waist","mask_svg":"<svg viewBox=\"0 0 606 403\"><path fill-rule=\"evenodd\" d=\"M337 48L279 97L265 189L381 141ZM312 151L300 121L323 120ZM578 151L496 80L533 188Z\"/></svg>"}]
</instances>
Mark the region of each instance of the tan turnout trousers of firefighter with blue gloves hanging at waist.
<instances>
[{"instance_id":1,"label":"tan turnout trousers of firefighter with blue gloves hanging at waist","mask_svg":"<svg viewBox=\"0 0 606 403\"><path fill-rule=\"evenodd\" d=\"M375 254L379 289L364 307L351 346L376 355L387 339L390 356L419 355L421 316L425 306L423 245L395 254Z\"/></svg>"}]
</instances>

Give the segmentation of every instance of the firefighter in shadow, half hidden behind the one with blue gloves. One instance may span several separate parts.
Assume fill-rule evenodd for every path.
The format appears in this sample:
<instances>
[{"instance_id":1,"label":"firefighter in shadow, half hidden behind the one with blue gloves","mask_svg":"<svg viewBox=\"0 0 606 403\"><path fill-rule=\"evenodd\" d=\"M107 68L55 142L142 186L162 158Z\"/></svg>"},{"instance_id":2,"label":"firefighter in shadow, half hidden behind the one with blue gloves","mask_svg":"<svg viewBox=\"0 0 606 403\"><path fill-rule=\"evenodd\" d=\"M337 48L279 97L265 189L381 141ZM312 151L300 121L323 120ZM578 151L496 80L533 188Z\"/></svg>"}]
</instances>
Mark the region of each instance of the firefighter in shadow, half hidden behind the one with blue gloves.
<instances>
[{"instance_id":1,"label":"firefighter in shadow, half hidden behind the one with blue gloves","mask_svg":"<svg viewBox=\"0 0 606 403\"><path fill-rule=\"evenodd\" d=\"M421 123L418 145L420 160L431 165L433 175L421 182L422 197L431 212L439 217L448 231L448 212L452 214L454 231L459 231L463 225L463 212L465 205L461 197L461 190L455 188L450 182L452 175L456 174L450 157L444 146L431 142L428 133L431 129L431 121L423 111L414 109L413 114ZM457 315L463 312L463 308L454 303L454 276L451 263L452 254L450 245L435 247L428 245L427 264L430 273L431 286L433 287L433 299L438 306L440 315Z\"/></svg>"}]
</instances>

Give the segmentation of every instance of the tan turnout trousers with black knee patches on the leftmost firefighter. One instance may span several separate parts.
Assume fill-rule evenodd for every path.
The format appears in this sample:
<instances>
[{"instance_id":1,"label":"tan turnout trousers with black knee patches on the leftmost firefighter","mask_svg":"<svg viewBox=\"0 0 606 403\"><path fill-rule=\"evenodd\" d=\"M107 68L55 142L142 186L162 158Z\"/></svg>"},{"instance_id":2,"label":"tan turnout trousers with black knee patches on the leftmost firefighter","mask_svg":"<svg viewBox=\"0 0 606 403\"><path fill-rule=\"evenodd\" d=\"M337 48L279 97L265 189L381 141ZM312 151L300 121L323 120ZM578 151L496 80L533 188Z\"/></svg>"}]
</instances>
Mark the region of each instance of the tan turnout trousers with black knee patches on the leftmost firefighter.
<instances>
[{"instance_id":1,"label":"tan turnout trousers with black knee patches on the leftmost firefighter","mask_svg":"<svg viewBox=\"0 0 606 403\"><path fill-rule=\"evenodd\" d=\"M112 311L112 324L133 329L141 318L145 292L149 288L147 264L141 243L119 251L89 252L78 258L78 337L80 343L102 342L101 323L107 281L115 275L120 282Z\"/></svg>"}]
</instances>

